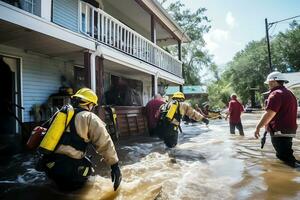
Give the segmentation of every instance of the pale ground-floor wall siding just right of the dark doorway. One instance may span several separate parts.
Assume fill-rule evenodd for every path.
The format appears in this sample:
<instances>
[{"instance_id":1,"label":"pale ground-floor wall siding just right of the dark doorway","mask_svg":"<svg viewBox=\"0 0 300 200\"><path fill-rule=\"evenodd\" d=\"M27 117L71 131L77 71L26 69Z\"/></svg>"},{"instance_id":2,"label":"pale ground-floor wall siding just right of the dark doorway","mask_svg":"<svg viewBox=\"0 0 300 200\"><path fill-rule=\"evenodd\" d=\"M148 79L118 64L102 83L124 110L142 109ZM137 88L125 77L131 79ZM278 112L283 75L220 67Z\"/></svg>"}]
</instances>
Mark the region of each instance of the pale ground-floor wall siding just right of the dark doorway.
<instances>
[{"instance_id":1,"label":"pale ground-floor wall siding just right of the dark doorway","mask_svg":"<svg viewBox=\"0 0 300 200\"><path fill-rule=\"evenodd\" d=\"M62 60L48 58L42 55L26 53L21 49L16 49L0 45L0 54L17 56L22 59L21 66L21 87L22 106L24 122L33 121L30 111L34 104L46 103L48 97L57 93L61 86L61 76L68 76L65 63Z\"/></svg>"}]
</instances>

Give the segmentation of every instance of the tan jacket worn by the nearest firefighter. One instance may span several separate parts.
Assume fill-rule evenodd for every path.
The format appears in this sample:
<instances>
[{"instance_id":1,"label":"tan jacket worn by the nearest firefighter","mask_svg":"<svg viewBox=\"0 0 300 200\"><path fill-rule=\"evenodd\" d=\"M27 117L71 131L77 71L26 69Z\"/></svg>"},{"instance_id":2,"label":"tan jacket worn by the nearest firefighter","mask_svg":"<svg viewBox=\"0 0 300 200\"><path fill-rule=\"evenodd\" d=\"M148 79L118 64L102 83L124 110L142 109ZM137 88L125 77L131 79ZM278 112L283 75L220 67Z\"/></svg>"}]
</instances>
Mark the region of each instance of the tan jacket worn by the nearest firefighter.
<instances>
[{"instance_id":1,"label":"tan jacket worn by the nearest firefighter","mask_svg":"<svg viewBox=\"0 0 300 200\"><path fill-rule=\"evenodd\" d=\"M75 128L85 142L91 142L94 145L107 164L113 165L119 161L113 141L105 128L105 123L97 115L88 111L79 112L75 116ZM76 150L70 145L61 144L55 153L81 159L85 152Z\"/></svg>"}]
</instances>

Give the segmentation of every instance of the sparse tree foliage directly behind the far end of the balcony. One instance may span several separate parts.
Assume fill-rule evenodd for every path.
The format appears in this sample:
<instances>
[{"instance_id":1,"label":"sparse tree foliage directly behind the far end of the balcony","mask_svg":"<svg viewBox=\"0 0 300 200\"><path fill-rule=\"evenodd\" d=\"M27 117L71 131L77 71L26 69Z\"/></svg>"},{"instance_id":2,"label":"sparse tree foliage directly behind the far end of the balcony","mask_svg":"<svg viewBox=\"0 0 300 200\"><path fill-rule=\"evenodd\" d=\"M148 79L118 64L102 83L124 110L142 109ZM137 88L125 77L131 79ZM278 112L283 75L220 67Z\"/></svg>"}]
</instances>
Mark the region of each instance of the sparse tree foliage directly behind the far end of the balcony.
<instances>
[{"instance_id":1,"label":"sparse tree foliage directly behind the far end of the balcony","mask_svg":"<svg viewBox=\"0 0 300 200\"><path fill-rule=\"evenodd\" d=\"M163 5L167 0L160 1ZM184 32L192 40L190 43L182 45L183 77L185 85L199 85L200 70L209 66L210 56L203 49L205 42L203 34L208 32L210 26L209 19L205 15L205 8L198 8L195 12L185 8L180 1L169 4L166 8L172 18L179 24ZM177 54L176 47L169 47L169 52Z\"/></svg>"}]
</instances>

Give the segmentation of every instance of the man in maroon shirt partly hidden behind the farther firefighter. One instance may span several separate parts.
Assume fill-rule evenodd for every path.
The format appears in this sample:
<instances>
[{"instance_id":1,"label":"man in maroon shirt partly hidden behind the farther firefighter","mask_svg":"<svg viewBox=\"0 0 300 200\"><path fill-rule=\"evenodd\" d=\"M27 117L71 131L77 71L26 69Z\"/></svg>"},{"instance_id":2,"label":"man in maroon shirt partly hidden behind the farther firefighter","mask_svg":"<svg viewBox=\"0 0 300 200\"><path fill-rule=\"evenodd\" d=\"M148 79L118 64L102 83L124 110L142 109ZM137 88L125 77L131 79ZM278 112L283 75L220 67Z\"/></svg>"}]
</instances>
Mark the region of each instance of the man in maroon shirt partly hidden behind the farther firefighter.
<instances>
[{"instance_id":1,"label":"man in maroon shirt partly hidden behind the farther firefighter","mask_svg":"<svg viewBox=\"0 0 300 200\"><path fill-rule=\"evenodd\" d=\"M146 117L150 136L155 136L155 128L159 117L159 108L164 104L164 100L160 94L156 94L154 99L150 100L146 105Z\"/></svg>"}]
</instances>

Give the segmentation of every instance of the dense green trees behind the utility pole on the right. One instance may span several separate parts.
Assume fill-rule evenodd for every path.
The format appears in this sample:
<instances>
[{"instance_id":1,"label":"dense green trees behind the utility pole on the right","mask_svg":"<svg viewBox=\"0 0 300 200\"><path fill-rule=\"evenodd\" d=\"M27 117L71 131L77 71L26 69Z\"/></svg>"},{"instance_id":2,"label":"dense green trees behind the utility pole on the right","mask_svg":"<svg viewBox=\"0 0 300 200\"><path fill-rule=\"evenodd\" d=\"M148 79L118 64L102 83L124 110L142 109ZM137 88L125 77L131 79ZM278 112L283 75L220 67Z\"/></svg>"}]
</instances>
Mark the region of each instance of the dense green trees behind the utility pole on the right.
<instances>
[{"instance_id":1,"label":"dense green trees behind the utility pole on the right","mask_svg":"<svg viewBox=\"0 0 300 200\"><path fill-rule=\"evenodd\" d=\"M296 22L286 32L281 32L271 40L273 68L281 72L300 70L300 25ZM213 69L213 68L212 68ZM246 103L251 99L251 92L256 91L256 101L263 92L268 90L264 84L270 73L268 53L265 38L249 42L238 52L226 66L220 79L213 82L209 88L212 104L222 106L227 95L234 91Z\"/></svg>"}]
</instances>

